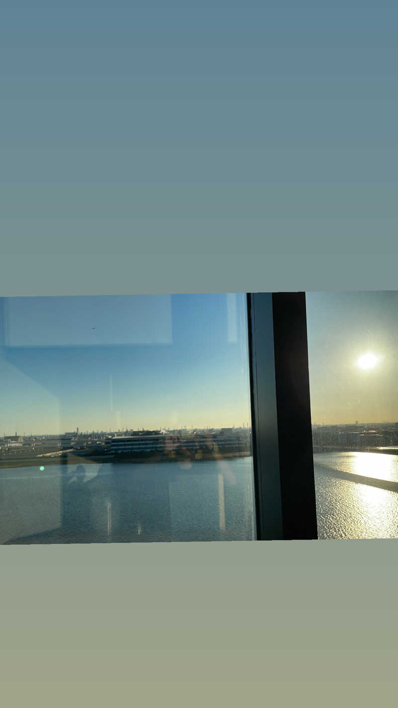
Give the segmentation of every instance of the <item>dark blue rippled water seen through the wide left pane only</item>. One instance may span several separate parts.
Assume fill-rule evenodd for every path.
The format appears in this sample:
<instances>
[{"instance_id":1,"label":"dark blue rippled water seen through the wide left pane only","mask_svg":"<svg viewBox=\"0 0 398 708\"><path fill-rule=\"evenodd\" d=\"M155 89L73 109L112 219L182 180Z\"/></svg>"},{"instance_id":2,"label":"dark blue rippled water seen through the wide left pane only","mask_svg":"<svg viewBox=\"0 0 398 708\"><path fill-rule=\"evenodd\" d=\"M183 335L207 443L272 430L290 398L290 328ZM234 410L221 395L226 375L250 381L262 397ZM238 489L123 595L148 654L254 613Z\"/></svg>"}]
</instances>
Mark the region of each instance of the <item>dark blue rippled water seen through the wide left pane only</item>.
<instances>
[{"instance_id":1,"label":"dark blue rippled water seen through the wide left pane only","mask_svg":"<svg viewBox=\"0 0 398 708\"><path fill-rule=\"evenodd\" d=\"M252 458L0 470L0 543L250 540Z\"/></svg>"}]
</instances>

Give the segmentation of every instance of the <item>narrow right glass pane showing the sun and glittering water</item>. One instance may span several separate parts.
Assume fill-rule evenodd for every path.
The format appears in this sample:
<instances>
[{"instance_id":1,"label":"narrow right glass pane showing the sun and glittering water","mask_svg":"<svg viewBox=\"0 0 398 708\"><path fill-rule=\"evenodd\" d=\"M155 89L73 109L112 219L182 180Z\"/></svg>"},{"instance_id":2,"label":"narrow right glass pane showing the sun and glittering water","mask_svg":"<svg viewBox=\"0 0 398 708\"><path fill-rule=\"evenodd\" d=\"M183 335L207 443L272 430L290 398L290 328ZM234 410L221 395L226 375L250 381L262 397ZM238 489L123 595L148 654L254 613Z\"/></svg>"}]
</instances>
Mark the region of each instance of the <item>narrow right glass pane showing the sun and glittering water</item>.
<instances>
[{"instance_id":1,"label":"narrow right glass pane showing the sun and glittering water","mask_svg":"<svg viewBox=\"0 0 398 708\"><path fill-rule=\"evenodd\" d=\"M306 302L318 535L398 537L398 292Z\"/></svg>"}]
</instances>

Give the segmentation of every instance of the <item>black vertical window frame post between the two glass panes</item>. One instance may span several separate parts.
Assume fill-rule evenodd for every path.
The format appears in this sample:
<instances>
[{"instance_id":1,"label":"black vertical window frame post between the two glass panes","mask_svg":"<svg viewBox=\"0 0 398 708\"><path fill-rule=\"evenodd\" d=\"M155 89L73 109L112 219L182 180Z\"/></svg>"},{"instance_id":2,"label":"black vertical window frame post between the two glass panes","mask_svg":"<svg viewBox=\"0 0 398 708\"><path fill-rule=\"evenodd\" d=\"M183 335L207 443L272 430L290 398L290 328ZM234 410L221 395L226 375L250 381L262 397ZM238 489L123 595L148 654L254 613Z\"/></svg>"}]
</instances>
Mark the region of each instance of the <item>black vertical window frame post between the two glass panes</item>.
<instances>
[{"instance_id":1,"label":"black vertical window frame post between the two glass panes","mask_svg":"<svg viewBox=\"0 0 398 708\"><path fill-rule=\"evenodd\" d=\"M258 540L317 539L305 292L247 293Z\"/></svg>"}]
</instances>

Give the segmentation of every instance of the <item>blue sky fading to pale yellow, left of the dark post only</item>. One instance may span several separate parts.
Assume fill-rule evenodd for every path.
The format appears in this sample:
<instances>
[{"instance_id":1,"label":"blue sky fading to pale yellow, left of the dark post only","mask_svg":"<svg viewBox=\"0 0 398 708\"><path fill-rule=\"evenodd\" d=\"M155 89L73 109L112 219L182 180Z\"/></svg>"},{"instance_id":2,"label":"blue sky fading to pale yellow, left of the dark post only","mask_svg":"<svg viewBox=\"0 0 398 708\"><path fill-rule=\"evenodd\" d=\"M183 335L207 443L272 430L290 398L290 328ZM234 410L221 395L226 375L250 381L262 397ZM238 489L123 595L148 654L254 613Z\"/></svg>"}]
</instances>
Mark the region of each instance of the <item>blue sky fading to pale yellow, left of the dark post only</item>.
<instances>
[{"instance_id":1,"label":"blue sky fading to pale yellow, left of the dark post only","mask_svg":"<svg viewBox=\"0 0 398 708\"><path fill-rule=\"evenodd\" d=\"M0 304L0 435L250 421L245 295Z\"/></svg>"}]
</instances>

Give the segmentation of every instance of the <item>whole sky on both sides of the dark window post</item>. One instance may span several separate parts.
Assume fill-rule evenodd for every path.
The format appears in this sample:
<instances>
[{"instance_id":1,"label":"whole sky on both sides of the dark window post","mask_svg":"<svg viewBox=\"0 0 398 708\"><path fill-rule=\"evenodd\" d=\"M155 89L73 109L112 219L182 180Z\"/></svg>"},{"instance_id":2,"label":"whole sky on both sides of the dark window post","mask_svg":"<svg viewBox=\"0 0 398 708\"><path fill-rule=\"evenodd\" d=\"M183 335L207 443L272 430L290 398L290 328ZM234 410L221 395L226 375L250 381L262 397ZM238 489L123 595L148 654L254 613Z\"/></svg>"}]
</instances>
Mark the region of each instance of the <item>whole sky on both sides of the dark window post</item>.
<instances>
[{"instance_id":1,"label":"whole sky on both sides of the dark window post","mask_svg":"<svg viewBox=\"0 0 398 708\"><path fill-rule=\"evenodd\" d=\"M308 292L312 423L398 421L398 292ZM245 295L0 301L0 435L250 423ZM363 369L363 355L376 365Z\"/></svg>"}]
</instances>

